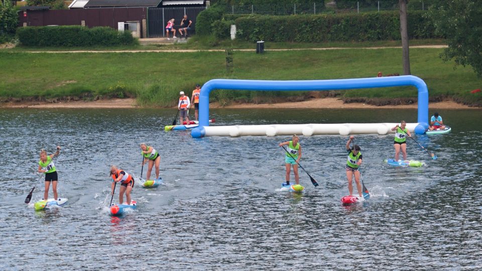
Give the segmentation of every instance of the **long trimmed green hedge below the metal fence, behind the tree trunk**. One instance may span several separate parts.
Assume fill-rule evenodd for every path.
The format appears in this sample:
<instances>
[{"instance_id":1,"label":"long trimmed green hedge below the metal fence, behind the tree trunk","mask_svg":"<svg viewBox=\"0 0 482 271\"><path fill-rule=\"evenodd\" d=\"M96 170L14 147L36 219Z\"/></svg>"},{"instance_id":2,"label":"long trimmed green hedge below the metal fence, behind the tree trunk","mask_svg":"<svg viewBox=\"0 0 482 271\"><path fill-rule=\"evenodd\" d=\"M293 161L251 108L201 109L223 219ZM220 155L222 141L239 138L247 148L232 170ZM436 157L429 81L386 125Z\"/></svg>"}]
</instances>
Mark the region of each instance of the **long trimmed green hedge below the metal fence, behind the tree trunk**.
<instances>
[{"instance_id":1,"label":"long trimmed green hedge below the metal fence, behind the tree trunk","mask_svg":"<svg viewBox=\"0 0 482 271\"><path fill-rule=\"evenodd\" d=\"M408 14L410 39L440 38L425 12ZM229 22L229 21L227 21ZM400 40L398 12L345 15L245 16L234 20L236 39L272 42ZM216 37L229 38L227 23L214 23Z\"/></svg>"}]
</instances>

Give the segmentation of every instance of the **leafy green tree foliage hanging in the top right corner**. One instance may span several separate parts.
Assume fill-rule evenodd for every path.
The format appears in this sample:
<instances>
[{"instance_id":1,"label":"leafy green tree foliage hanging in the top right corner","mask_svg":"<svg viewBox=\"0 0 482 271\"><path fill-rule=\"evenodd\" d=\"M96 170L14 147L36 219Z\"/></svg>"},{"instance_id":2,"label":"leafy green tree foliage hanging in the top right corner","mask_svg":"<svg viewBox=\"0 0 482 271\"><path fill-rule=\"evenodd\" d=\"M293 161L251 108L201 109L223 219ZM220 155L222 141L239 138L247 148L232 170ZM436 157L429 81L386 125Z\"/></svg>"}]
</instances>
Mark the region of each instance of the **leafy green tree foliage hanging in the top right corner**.
<instances>
[{"instance_id":1,"label":"leafy green tree foliage hanging in the top right corner","mask_svg":"<svg viewBox=\"0 0 482 271\"><path fill-rule=\"evenodd\" d=\"M447 39L448 48L440 55L444 61L472 67L482 76L482 5L479 0L437 0L428 16L435 31Z\"/></svg>"}]
</instances>

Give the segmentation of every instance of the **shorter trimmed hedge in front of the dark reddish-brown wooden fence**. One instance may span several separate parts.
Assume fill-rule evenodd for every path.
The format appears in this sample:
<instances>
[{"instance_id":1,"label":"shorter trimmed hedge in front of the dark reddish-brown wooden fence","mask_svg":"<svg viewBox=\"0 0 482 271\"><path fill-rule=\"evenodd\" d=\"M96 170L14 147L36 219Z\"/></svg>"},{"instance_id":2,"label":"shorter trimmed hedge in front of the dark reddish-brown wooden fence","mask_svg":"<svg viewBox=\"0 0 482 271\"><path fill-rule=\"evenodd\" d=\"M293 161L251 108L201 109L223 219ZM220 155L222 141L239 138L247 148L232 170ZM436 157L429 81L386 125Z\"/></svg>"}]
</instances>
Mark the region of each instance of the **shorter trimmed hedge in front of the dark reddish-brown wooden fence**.
<instances>
[{"instance_id":1,"label":"shorter trimmed hedge in front of the dark reddish-brown wooden fence","mask_svg":"<svg viewBox=\"0 0 482 271\"><path fill-rule=\"evenodd\" d=\"M110 27L21 27L17 29L17 35L20 43L25 46L85 47L138 43L130 31L119 32Z\"/></svg>"}]
</instances>

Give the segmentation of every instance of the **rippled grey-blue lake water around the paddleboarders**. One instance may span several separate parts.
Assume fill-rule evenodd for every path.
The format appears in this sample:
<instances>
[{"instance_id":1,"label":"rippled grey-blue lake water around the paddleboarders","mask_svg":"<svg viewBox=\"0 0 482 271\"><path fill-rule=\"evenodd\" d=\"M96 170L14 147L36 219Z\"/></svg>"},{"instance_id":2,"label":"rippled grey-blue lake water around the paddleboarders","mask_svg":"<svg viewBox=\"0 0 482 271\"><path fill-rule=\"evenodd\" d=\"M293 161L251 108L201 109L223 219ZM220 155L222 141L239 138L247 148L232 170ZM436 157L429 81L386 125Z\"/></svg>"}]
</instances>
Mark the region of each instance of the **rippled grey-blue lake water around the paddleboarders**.
<instances>
[{"instance_id":1,"label":"rippled grey-blue lake water around the paddleboarders","mask_svg":"<svg viewBox=\"0 0 482 271\"><path fill-rule=\"evenodd\" d=\"M289 137L165 132L167 109L0 109L0 269L446 269L482 268L480 110L439 110L450 134L416 139L391 168L393 135L355 135L372 193L343 207L347 137L301 137L303 194L279 191ZM216 124L416 121L416 110L212 109ZM430 113L433 113L431 111ZM139 176L139 143L162 156L164 184L136 183L138 209L110 217L109 165ZM35 212L39 150L55 158L62 208ZM147 167L144 167L144 177ZM153 170L154 175L154 170ZM293 175L292 175L293 180ZM117 192L117 191L116 191ZM118 195L116 193L116 195ZM52 197L52 190L50 190ZM114 197L116 202L117 196Z\"/></svg>"}]
</instances>

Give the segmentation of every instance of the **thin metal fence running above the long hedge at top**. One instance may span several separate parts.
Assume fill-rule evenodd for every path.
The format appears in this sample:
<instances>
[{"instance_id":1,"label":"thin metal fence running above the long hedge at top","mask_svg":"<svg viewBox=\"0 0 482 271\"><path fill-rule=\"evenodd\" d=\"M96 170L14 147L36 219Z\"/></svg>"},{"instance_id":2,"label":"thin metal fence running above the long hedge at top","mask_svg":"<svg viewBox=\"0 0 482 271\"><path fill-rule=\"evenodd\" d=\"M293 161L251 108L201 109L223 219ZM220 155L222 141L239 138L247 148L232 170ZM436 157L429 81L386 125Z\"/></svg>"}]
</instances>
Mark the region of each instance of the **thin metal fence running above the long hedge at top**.
<instances>
[{"instance_id":1,"label":"thin metal fence running above the long hedge at top","mask_svg":"<svg viewBox=\"0 0 482 271\"><path fill-rule=\"evenodd\" d=\"M428 9L428 4L424 2L409 2L407 10L423 11ZM392 1L374 1L374 2L343 2L337 1L335 6L328 6L324 3L313 4L292 4L292 5L243 5L243 6L225 6L225 12L228 14L258 14L258 15L303 15L303 14L338 14L338 13L365 13L365 12L382 12L382 11L398 11L398 0Z\"/></svg>"}]
</instances>

